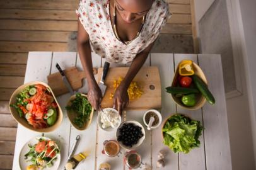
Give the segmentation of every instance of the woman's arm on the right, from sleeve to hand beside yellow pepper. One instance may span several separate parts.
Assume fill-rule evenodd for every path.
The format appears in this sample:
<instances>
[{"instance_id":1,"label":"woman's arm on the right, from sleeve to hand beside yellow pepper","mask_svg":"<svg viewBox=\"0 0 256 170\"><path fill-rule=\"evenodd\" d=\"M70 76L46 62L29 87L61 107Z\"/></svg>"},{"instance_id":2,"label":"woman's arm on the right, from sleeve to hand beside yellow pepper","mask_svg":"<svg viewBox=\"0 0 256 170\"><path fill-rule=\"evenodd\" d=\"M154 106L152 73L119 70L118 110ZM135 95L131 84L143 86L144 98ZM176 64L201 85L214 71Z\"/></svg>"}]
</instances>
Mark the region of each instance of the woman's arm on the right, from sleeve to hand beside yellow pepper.
<instances>
[{"instance_id":1,"label":"woman's arm on the right, from sleeve to hand beside yellow pepper","mask_svg":"<svg viewBox=\"0 0 256 170\"><path fill-rule=\"evenodd\" d=\"M141 53L137 54L135 59L132 61L132 64L127 72L124 80L120 83L119 88L115 91L113 97L113 108L117 109L119 113L122 113L122 110L129 103L129 96L127 89L129 88L132 79L136 76L137 72L141 69L144 62L148 58L148 54L153 47L154 43L151 43L147 48L145 48Z\"/></svg>"}]
</instances>

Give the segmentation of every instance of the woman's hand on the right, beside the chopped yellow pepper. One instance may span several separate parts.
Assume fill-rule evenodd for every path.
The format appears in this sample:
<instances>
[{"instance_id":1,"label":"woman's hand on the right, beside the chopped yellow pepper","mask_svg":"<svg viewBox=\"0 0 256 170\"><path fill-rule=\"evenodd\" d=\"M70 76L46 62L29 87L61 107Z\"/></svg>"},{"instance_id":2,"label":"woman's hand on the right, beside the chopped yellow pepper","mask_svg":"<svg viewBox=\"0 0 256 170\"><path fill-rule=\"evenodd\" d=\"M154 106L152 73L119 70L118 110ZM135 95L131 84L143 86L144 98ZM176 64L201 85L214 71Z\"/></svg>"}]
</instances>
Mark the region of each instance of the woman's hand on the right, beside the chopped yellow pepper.
<instances>
[{"instance_id":1,"label":"woman's hand on the right, beside the chopped yellow pepper","mask_svg":"<svg viewBox=\"0 0 256 170\"><path fill-rule=\"evenodd\" d=\"M113 95L113 108L119 111L119 115L122 115L122 111L129 104L129 96L127 93L127 87L121 82Z\"/></svg>"}]
</instances>

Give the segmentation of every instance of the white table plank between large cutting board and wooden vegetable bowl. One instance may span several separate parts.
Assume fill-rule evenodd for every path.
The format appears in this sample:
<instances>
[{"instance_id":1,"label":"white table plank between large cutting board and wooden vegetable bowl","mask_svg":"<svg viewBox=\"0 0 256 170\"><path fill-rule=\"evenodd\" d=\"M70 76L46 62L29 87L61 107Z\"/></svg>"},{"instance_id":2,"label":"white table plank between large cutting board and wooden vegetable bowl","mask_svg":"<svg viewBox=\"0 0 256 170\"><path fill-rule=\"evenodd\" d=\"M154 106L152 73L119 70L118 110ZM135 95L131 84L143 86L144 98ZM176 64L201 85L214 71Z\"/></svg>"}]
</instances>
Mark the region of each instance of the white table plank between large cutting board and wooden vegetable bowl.
<instances>
[{"instance_id":1,"label":"white table plank between large cutting board and wooden vegetable bowl","mask_svg":"<svg viewBox=\"0 0 256 170\"><path fill-rule=\"evenodd\" d=\"M165 92L165 88L172 84L172 77L174 75L173 69L173 54L151 54L151 65L158 66L161 77L161 96L162 108L161 115L163 121L172 113L176 112L175 103L172 101L172 96ZM174 154L167 146L163 144L163 137L161 127L152 132L152 162L153 169L156 169L156 162L158 161L158 152L163 150L166 154L166 166L162 169L178 169L178 154Z\"/></svg>"}]
</instances>

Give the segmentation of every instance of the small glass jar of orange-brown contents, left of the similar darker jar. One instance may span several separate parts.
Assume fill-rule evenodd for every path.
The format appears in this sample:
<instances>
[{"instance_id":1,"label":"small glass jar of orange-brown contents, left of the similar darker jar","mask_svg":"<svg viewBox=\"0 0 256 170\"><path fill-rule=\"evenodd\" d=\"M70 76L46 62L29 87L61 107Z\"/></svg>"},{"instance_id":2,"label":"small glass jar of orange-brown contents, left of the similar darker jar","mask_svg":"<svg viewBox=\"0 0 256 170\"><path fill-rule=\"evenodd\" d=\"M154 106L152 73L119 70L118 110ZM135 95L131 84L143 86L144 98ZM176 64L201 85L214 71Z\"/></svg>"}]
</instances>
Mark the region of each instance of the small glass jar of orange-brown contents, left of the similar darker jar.
<instances>
[{"instance_id":1,"label":"small glass jar of orange-brown contents, left of the similar darker jar","mask_svg":"<svg viewBox=\"0 0 256 170\"><path fill-rule=\"evenodd\" d=\"M120 152L119 142L117 142L117 140L105 140L103 142L102 154L108 157L119 157L119 154L122 154L122 152Z\"/></svg>"}]
</instances>

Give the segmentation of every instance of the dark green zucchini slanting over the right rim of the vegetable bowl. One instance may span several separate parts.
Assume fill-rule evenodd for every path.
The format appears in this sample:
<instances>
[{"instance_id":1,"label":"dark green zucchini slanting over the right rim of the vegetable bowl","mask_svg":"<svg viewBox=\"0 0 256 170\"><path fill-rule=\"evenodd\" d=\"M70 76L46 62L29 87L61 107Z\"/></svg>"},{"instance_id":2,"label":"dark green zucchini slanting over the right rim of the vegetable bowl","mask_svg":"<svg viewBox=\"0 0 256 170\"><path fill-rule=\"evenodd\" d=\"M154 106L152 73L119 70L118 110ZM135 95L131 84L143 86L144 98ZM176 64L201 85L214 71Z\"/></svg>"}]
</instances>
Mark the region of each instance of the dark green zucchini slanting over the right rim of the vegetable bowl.
<instances>
[{"instance_id":1,"label":"dark green zucchini slanting over the right rim of the vegetable bowl","mask_svg":"<svg viewBox=\"0 0 256 170\"><path fill-rule=\"evenodd\" d=\"M197 89L199 89L199 91L202 93L202 96L206 98L208 103L210 103L211 105L214 105L215 99L211 91L209 91L209 89L207 88L207 84L204 83L204 81L202 81L202 79L195 74L192 76L192 79Z\"/></svg>"}]
</instances>

